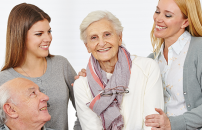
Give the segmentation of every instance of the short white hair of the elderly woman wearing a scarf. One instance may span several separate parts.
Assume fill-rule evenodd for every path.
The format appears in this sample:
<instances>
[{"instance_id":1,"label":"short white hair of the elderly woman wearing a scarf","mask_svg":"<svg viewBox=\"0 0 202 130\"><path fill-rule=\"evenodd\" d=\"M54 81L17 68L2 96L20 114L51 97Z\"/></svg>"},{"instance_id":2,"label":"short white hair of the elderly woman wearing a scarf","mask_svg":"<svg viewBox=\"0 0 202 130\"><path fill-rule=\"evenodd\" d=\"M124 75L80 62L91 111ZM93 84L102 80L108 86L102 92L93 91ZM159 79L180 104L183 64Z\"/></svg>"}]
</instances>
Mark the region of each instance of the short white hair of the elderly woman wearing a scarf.
<instances>
[{"instance_id":1,"label":"short white hair of the elderly woman wearing a scarf","mask_svg":"<svg viewBox=\"0 0 202 130\"><path fill-rule=\"evenodd\" d=\"M87 39L86 29L88 28L88 26L93 22L99 21L101 19L107 19L110 22L112 22L112 24L114 25L114 29L116 30L116 33L118 35L121 35L121 33L123 32L123 27L117 17L115 17L109 11L101 11L101 10L93 11L84 18L84 20L80 25L80 38L81 40L83 40L84 43L86 43Z\"/></svg>"}]
</instances>

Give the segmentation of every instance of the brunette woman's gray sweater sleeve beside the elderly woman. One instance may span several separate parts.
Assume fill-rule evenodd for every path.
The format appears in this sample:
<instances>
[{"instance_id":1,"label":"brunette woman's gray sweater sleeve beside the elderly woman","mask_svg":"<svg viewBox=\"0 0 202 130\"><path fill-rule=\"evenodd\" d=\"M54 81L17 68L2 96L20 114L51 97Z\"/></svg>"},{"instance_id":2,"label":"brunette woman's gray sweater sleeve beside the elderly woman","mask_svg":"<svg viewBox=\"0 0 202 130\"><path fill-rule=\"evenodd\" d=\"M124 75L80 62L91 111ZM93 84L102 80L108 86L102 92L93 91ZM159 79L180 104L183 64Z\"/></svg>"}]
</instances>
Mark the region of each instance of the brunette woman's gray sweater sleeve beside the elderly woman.
<instances>
[{"instance_id":1,"label":"brunette woman's gray sweater sleeve beside the elderly woman","mask_svg":"<svg viewBox=\"0 0 202 130\"><path fill-rule=\"evenodd\" d=\"M74 100L74 92L73 92L73 87L71 86L71 84L74 83L74 76L76 76L77 74L76 74L75 70L73 69L73 67L71 66L71 64L66 59L65 59L65 64L64 64L64 70L65 70L64 71L65 81L66 81L68 89L69 89L69 98L72 101L72 105L76 109L75 100ZM75 115L77 117L77 113ZM78 117L74 124L74 130L82 130Z\"/></svg>"}]
</instances>

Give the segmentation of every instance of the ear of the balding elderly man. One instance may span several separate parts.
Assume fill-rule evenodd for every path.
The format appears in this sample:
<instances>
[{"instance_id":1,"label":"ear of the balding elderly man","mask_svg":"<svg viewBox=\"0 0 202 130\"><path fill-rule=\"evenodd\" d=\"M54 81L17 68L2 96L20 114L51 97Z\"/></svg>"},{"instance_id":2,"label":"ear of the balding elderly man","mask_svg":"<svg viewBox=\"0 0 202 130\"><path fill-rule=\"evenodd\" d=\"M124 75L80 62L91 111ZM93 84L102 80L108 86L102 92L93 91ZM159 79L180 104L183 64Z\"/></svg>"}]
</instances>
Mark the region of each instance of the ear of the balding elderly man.
<instances>
[{"instance_id":1,"label":"ear of the balding elderly man","mask_svg":"<svg viewBox=\"0 0 202 130\"><path fill-rule=\"evenodd\" d=\"M18 113L16 111L16 106L12 103L5 103L3 105L3 110L10 118L17 118Z\"/></svg>"}]
</instances>

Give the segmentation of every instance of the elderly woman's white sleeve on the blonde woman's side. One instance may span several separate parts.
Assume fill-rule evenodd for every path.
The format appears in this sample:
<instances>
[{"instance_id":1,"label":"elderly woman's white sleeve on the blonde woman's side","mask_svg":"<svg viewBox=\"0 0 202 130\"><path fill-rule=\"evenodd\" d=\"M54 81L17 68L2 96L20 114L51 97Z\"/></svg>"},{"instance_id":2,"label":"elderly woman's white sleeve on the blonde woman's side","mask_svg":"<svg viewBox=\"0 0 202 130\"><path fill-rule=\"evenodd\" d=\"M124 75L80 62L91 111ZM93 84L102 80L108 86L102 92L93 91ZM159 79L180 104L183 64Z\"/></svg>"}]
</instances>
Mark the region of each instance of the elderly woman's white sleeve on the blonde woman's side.
<instances>
[{"instance_id":1,"label":"elderly woman's white sleeve on the blonde woman's side","mask_svg":"<svg viewBox=\"0 0 202 130\"><path fill-rule=\"evenodd\" d=\"M148 71L148 79L146 82L146 90L144 95L144 111L143 117L151 114L157 114L155 108L164 110L163 87L158 64L152 60L150 69ZM144 130L151 130L151 127L146 127L144 123Z\"/></svg>"}]
</instances>

